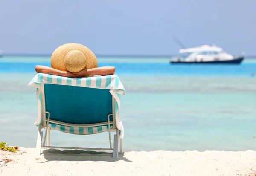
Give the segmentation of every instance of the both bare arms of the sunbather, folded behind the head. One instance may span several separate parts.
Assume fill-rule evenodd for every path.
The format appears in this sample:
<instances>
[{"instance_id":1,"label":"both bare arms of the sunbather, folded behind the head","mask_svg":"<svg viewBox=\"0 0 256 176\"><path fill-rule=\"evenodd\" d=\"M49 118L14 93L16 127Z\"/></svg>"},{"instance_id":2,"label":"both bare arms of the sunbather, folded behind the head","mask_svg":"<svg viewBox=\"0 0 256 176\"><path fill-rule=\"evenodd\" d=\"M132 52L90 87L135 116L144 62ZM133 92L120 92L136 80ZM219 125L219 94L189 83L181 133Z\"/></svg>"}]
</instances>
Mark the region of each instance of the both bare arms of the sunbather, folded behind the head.
<instances>
[{"instance_id":1,"label":"both bare arms of the sunbather, folded behind the head","mask_svg":"<svg viewBox=\"0 0 256 176\"><path fill-rule=\"evenodd\" d=\"M70 77L70 78L80 78L80 77L87 77L88 75L113 75L116 72L115 67L113 66L103 66L103 67L98 67L94 69L83 69L80 72L77 73L71 73L71 72L66 72L66 71L60 71L57 69L53 69L48 66L41 66L37 65L35 66L35 71L37 73L45 73L45 74L50 74L50 75L58 75L58 76L64 76L64 77Z\"/></svg>"}]
</instances>

